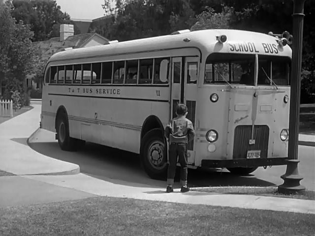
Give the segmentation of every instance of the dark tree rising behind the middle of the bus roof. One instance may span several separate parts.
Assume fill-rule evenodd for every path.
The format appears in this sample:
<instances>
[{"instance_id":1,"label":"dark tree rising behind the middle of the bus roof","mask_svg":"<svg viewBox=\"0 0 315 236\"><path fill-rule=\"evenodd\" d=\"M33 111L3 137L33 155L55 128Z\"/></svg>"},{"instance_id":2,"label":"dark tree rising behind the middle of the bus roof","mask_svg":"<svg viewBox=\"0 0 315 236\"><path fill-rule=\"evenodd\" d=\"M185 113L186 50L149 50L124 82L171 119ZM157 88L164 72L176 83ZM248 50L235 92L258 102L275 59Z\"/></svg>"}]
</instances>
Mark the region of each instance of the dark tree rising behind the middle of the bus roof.
<instances>
[{"instance_id":1,"label":"dark tree rising behind the middle of the bus roof","mask_svg":"<svg viewBox=\"0 0 315 236\"><path fill-rule=\"evenodd\" d=\"M104 10L108 10L104 0ZM169 34L179 29L189 29L195 22L189 0L131 0L117 1L117 15L110 30L103 36L119 41ZM104 29L104 28L103 28ZM96 32L104 32L101 27Z\"/></svg>"}]
</instances>

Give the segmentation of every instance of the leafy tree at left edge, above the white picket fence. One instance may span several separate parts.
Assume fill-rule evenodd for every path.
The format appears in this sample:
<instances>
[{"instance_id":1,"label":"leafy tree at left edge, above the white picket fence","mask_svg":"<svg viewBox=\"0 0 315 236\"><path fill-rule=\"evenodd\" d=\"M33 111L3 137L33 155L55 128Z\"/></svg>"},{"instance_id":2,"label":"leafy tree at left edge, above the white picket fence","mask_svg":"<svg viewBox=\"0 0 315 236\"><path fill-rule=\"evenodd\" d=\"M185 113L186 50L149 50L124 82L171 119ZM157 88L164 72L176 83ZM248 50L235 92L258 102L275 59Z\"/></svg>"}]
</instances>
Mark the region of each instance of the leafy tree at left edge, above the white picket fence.
<instances>
[{"instance_id":1,"label":"leafy tree at left edge, above the white picket fence","mask_svg":"<svg viewBox=\"0 0 315 236\"><path fill-rule=\"evenodd\" d=\"M5 98L25 90L25 76L33 70L32 31L22 21L15 23L10 5L0 8L0 79L5 82Z\"/></svg>"}]
</instances>

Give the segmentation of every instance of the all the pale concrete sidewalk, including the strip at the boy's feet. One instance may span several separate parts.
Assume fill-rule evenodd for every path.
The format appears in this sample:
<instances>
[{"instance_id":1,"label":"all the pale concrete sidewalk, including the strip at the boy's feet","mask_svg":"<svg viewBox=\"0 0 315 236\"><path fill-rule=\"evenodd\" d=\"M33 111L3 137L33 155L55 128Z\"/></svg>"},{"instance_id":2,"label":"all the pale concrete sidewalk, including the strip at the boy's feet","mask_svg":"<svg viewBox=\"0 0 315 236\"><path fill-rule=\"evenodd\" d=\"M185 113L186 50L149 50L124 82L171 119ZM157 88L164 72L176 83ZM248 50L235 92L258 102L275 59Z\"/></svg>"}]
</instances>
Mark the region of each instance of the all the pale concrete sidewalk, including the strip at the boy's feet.
<instances>
[{"instance_id":1,"label":"all the pale concrete sidewalk, including the strip at the boy's feet","mask_svg":"<svg viewBox=\"0 0 315 236\"><path fill-rule=\"evenodd\" d=\"M76 164L54 159L29 147L38 135L39 102L32 110L0 124L0 207L42 204L94 196L134 198L184 204L242 207L315 214L315 201L257 195L190 191L165 193L165 188L98 179L80 173ZM314 135L300 135L303 145L314 146Z\"/></svg>"}]
</instances>

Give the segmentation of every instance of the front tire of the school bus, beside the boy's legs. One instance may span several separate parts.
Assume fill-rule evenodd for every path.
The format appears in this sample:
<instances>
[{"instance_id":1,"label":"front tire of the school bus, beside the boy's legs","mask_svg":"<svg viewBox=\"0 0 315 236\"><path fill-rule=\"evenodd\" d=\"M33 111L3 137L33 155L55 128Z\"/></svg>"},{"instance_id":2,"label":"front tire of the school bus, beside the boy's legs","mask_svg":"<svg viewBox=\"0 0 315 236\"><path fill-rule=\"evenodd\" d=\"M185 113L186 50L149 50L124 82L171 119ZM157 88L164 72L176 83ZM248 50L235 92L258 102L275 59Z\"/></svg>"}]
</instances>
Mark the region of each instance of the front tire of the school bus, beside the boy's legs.
<instances>
[{"instance_id":1,"label":"front tire of the school bus, beside the boy's legs","mask_svg":"<svg viewBox=\"0 0 315 236\"><path fill-rule=\"evenodd\" d=\"M166 179L167 146L161 129L152 129L144 135L140 148L141 164L153 179Z\"/></svg>"}]
</instances>

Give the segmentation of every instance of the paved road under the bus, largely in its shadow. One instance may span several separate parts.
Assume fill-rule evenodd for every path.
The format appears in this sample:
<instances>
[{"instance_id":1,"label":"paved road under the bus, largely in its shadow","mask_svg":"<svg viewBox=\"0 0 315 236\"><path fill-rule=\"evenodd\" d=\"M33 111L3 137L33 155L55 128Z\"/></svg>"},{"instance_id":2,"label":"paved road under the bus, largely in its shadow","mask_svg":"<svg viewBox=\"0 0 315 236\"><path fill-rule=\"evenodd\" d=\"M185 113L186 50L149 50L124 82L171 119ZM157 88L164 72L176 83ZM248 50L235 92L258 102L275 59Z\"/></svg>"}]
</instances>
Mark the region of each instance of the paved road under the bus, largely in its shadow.
<instances>
[{"instance_id":1,"label":"paved road under the bus, largely in its shadow","mask_svg":"<svg viewBox=\"0 0 315 236\"><path fill-rule=\"evenodd\" d=\"M31 140L31 148L59 160L78 164L81 173L99 179L124 180L131 185L149 184L163 187L164 181L150 179L140 168L139 158L133 153L120 151L100 145L87 143L76 152L62 151L55 134L40 130ZM304 177L301 181L307 189L315 190L315 147L299 146L299 171ZM204 186L273 186L283 183L281 175L285 173L285 166L268 167L264 170L258 168L250 176L236 177L227 170L189 170L189 185Z\"/></svg>"}]
</instances>

